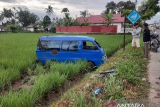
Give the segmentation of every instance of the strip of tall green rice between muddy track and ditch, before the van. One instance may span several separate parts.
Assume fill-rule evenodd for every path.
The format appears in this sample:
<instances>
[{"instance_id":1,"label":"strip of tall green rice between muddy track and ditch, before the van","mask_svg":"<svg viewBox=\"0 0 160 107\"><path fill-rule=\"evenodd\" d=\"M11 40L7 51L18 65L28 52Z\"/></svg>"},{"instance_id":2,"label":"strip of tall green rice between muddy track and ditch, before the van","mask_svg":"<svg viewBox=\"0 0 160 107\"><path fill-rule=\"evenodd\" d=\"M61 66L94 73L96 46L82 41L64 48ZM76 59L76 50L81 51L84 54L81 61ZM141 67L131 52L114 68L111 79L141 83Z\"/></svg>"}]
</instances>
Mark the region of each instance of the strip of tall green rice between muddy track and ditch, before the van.
<instances>
[{"instance_id":1,"label":"strip of tall green rice between muddy track and ditch, before the van","mask_svg":"<svg viewBox=\"0 0 160 107\"><path fill-rule=\"evenodd\" d=\"M48 72L42 72L42 74L35 77L31 89L22 89L17 92L10 91L8 95L1 96L0 105L2 107L33 107L49 91L62 86L67 78L69 79L85 70L87 62L79 61L75 64L55 63L50 66ZM41 66L39 67L39 70L43 69Z\"/></svg>"}]
</instances>

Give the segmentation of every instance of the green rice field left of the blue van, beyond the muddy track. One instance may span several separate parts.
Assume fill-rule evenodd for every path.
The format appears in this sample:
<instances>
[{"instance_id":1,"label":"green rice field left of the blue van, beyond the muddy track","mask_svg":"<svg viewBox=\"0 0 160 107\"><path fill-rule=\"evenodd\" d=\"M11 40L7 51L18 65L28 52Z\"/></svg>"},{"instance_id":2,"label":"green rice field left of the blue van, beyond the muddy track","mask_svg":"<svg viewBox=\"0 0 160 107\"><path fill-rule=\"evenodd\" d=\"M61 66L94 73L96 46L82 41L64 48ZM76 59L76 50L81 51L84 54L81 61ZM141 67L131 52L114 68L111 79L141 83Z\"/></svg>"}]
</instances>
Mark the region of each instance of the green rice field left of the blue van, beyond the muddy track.
<instances>
[{"instance_id":1,"label":"green rice field left of the blue van, beyond the muddy track","mask_svg":"<svg viewBox=\"0 0 160 107\"><path fill-rule=\"evenodd\" d=\"M5 33L0 35L0 90L20 78L35 59L38 36Z\"/></svg>"}]
</instances>

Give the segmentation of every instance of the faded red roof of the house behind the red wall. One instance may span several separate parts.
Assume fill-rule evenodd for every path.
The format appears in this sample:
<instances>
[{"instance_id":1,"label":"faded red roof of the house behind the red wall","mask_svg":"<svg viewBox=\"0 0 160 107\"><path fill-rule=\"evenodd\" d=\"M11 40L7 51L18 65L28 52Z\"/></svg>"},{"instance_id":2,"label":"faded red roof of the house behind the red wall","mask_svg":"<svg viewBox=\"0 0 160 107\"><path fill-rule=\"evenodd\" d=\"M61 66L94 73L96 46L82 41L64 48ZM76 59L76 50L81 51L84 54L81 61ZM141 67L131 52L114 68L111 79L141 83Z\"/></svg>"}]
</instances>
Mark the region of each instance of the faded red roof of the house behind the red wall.
<instances>
[{"instance_id":1,"label":"faded red roof of the house behind the red wall","mask_svg":"<svg viewBox=\"0 0 160 107\"><path fill-rule=\"evenodd\" d=\"M89 17L78 17L76 19L79 23L85 23L87 21L90 24L104 24L106 23L105 18L102 15L91 15ZM112 18L113 23L123 23L124 17L121 14L114 14Z\"/></svg>"}]
</instances>

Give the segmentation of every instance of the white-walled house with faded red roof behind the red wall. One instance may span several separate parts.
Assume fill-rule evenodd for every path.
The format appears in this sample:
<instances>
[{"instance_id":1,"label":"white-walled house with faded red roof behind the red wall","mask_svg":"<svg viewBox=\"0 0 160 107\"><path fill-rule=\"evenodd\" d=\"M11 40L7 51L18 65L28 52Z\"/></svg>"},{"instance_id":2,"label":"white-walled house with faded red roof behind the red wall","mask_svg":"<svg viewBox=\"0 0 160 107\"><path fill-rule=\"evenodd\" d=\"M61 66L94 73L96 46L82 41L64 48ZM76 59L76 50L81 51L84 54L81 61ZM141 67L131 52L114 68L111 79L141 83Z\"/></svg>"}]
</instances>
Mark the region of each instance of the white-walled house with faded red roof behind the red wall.
<instances>
[{"instance_id":1,"label":"white-walled house with faded red roof behind the red wall","mask_svg":"<svg viewBox=\"0 0 160 107\"><path fill-rule=\"evenodd\" d=\"M106 25L106 20L102 15L91 15L89 17L78 17L76 19L79 23L88 23L89 25L93 26L101 26ZM123 33L123 23L124 17L121 14L113 14L112 24L117 26L117 33Z\"/></svg>"}]
</instances>

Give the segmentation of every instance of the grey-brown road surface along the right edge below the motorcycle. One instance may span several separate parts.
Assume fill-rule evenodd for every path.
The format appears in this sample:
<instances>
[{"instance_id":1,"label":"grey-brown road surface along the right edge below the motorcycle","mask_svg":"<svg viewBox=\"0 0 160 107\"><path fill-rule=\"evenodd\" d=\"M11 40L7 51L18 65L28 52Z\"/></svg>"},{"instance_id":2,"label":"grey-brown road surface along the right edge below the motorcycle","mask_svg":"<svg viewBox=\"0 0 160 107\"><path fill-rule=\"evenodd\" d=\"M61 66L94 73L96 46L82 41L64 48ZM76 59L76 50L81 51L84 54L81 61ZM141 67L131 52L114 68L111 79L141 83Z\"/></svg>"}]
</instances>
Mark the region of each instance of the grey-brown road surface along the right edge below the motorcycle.
<instances>
[{"instance_id":1,"label":"grey-brown road surface along the right edge below the motorcycle","mask_svg":"<svg viewBox=\"0 0 160 107\"><path fill-rule=\"evenodd\" d=\"M160 53L150 53L148 78L150 82L150 107L160 107Z\"/></svg>"}]
</instances>

